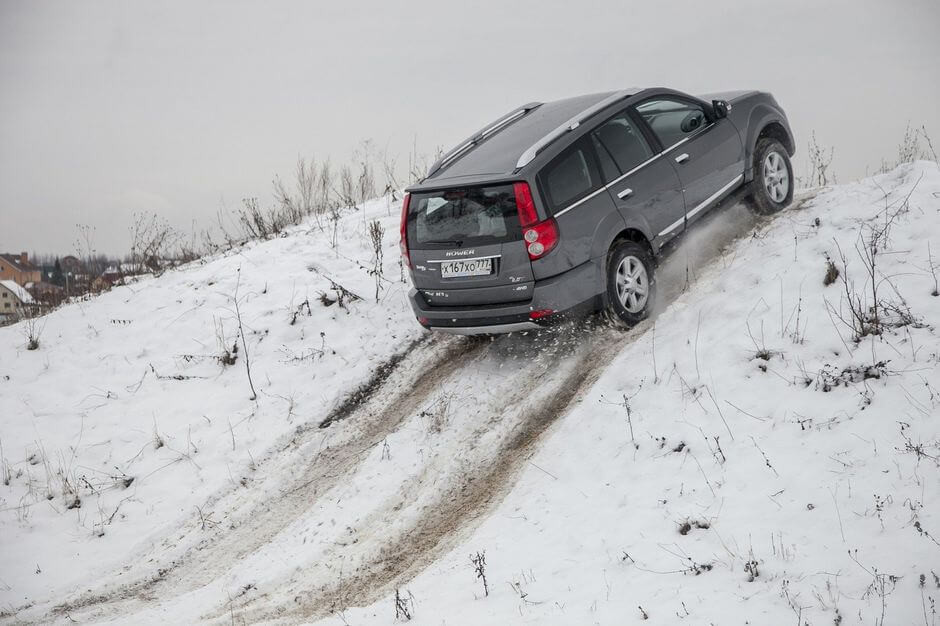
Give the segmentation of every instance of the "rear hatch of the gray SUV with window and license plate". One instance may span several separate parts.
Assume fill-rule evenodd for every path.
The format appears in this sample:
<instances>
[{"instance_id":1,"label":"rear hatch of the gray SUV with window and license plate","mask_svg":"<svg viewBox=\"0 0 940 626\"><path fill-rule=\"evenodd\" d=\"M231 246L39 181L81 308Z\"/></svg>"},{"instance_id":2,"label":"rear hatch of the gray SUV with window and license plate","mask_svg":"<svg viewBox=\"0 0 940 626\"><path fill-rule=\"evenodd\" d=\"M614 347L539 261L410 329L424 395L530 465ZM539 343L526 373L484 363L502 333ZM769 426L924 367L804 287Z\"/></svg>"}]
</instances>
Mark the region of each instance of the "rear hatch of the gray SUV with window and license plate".
<instances>
[{"instance_id":1,"label":"rear hatch of the gray SUV with window and license plate","mask_svg":"<svg viewBox=\"0 0 940 626\"><path fill-rule=\"evenodd\" d=\"M431 307L531 300L532 263L512 183L417 192L406 200L403 245L415 288Z\"/></svg>"}]
</instances>

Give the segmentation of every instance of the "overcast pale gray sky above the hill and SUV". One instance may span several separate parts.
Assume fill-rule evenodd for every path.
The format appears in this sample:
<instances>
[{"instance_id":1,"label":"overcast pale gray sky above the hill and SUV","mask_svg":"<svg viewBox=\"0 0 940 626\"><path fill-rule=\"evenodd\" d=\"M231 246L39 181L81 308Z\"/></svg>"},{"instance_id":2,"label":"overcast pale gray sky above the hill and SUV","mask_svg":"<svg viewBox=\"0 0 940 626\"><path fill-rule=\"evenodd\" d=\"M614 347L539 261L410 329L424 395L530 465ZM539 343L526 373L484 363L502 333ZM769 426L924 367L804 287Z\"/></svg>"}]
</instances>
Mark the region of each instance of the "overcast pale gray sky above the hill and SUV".
<instances>
[{"instance_id":1,"label":"overcast pale gray sky above the hill and SUV","mask_svg":"<svg viewBox=\"0 0 940 626\"><path fill-rule=\"evenodd\" d=\"M937 0L0 0L0 251L74 252L82 223L123 253L135 211L209 226L299 155L404 163L633 85L772 91L855 178L908 122L940 144L938 25Z\"/></svg>"}]
</instances>

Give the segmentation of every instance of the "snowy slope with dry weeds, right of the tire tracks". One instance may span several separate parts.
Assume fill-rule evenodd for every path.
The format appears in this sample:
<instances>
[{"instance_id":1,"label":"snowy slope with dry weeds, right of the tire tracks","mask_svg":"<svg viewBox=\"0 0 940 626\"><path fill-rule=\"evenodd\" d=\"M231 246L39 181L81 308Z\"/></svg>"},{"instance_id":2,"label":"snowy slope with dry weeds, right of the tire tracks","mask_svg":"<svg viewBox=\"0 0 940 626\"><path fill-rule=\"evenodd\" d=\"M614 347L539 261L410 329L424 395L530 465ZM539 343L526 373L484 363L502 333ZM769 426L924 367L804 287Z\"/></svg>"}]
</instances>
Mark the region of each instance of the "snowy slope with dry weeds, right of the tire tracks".
<instances>
[{"instance_id":1,"label":"snowy slope with dry weeds, right of the tire tracks","mask_svg":"<svg viewBox=\"0 0 940 626\"><path fill-rule=\"evenodd\" d=\"M850 296L872 304L873 232L884 327L853 341L840 316ZM738 242L617 355L486 521L401 586L413 622L940 622L938 249L925 162ZM849 295L823 284L827 255ZM484 552L488 596L470 558ZM388 594L342 618L395 608Z\"/></svg>"}]
</instances>

